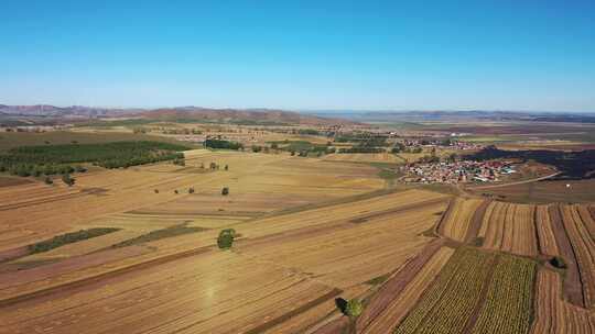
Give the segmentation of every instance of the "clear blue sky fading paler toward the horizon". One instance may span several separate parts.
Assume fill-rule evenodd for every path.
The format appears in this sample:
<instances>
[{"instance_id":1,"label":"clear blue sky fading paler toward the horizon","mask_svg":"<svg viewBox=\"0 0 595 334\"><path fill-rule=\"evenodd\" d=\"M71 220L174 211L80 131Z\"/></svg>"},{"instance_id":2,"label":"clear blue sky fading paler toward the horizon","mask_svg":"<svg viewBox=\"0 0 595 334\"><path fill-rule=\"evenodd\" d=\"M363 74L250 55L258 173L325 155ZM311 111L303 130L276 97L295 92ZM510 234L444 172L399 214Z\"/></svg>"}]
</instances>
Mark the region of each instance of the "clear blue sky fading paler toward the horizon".
<instances>
[{"instance_id":1,"label":"clear blue sky fading paler toward the horizon","mask_svg":"<svg viewBox=\"0 0 595 334\"><path fill-rule=\"evenodd\" d=\"M0 103L595 111L595 1L2 1Z\"/></svg>"}]
</instances>

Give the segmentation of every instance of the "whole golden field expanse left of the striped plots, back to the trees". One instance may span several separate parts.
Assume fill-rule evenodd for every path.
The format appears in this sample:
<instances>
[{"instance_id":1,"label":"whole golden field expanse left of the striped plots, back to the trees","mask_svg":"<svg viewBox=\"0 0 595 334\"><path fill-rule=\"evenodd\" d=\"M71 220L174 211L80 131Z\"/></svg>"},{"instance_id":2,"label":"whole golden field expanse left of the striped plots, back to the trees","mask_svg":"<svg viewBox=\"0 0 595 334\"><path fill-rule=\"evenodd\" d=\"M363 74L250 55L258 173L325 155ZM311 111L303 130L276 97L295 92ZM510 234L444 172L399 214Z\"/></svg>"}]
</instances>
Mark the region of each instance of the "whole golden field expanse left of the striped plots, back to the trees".
<instances>
[{"instance_id":1,"label":"whole golden field expanse left of the striped plots, back to the trees","mask_svg":"<svg viewBox=\"0 0 595 334\"><path fill-rule=\"evenodd\" d=\"M367 165L186 155L183 168L160 163L95 170L74 187L3 187L1 331L301 332L332 313L335 298L368 293L369 280L421 253L450 200L381 190ZM228 227L236 245L219 250ZM30 247L93 229L113 231ZM451 252L441 253L439 263Z\"/></svg>"}]
</instances>

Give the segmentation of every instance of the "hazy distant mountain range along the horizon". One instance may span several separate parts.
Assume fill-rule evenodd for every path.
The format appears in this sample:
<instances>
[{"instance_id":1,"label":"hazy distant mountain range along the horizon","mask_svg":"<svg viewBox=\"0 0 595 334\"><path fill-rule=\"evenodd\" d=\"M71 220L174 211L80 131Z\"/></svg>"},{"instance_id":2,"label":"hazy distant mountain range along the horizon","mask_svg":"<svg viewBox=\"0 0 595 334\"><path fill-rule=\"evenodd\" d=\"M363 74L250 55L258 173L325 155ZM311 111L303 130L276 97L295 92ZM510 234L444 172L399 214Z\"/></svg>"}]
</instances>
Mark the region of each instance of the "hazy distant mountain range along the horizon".
<instances>
[{"instance_id":1,"label":"hazy distant mountain range along the horizon","mask_svg":"<svg viewBox=\"0 0 595 334\"><path fill-rule=\"evenodd\" d=\"M0 104L2 118L45 119L97 119L143 118L152 120L203 120L245 124L307 124L335 125L359 122L415 122L415 121L538 121L595 123L595 113L526 112L526 111L286 111L277 109L213 109L202 107L174 107L161 109L55 107L48 104L6 105Z\"/></svg>"}]
</instances>

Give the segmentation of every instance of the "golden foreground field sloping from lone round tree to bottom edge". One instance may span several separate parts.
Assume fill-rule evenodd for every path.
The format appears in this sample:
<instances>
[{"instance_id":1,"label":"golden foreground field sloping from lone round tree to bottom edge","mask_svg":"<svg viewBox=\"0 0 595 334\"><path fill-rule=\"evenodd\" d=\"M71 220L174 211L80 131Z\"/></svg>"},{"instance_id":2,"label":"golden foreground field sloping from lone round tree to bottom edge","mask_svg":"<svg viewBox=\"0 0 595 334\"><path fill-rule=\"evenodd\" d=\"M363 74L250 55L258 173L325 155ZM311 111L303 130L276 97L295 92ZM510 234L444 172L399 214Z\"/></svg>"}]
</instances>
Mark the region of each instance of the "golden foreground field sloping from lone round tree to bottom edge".
<instances>
[{"instance_id":1,"label":"golden foreground field sloping from lone round tree to bottom edge","mask_svg":"<svg viewBox=\"0 0 595 334\"><path fill-rule=\"evenodd\" d=\"M430 241L420 233L435 224L435 212L444 210L446 200L408 191L240 222L231 224L242 234L234 252L214 249L216 234L205 231L148 243L159 250L141 248L133 260L86 268L71 264L63 275L43 281L21 283L0 275L7 287L0 307L20 305L2 313L4 327L12 333L46 324L61 332L213 333L234 320L229 333L262 333L281 324L305 329L320 319L290 315L324 305L323 316L334 309L328 301L358 285L365 290L366 280L420 252ZM387 230L402 231L402 241ZM201 242L201 236L206 238ZM378 247L385 237L394 241L392 248ZM123 249L134 247L140 246ZM69 310L67 319L51 312L56 307ZM86 319L89 312L95 312L93 319ZM163 319L175 321L161 323Z\"/></svg>"}]
</instances>

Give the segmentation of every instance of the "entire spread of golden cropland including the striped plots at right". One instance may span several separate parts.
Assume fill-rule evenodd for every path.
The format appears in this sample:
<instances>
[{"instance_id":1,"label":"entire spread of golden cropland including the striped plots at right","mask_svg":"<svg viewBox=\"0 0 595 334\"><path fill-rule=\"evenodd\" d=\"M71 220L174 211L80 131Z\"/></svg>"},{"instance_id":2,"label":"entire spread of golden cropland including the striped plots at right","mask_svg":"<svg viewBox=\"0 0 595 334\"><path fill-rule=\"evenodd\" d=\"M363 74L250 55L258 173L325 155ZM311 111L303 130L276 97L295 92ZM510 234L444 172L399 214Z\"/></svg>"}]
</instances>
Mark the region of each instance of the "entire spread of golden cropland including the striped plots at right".
<instances>
[{"instance_id":1,"label":"entire spread of golden cropland including the striped plots at right","mask_svg":"<svg viewBox=\"0 0 595 334\"><path fill-rule=\"evenodd\" d=\"M593 207L387 189L326 158L194 149L0 188L0 333L589 333ZM338 298L366 300L357 321Z\"/></svg>"}]
</instances>

